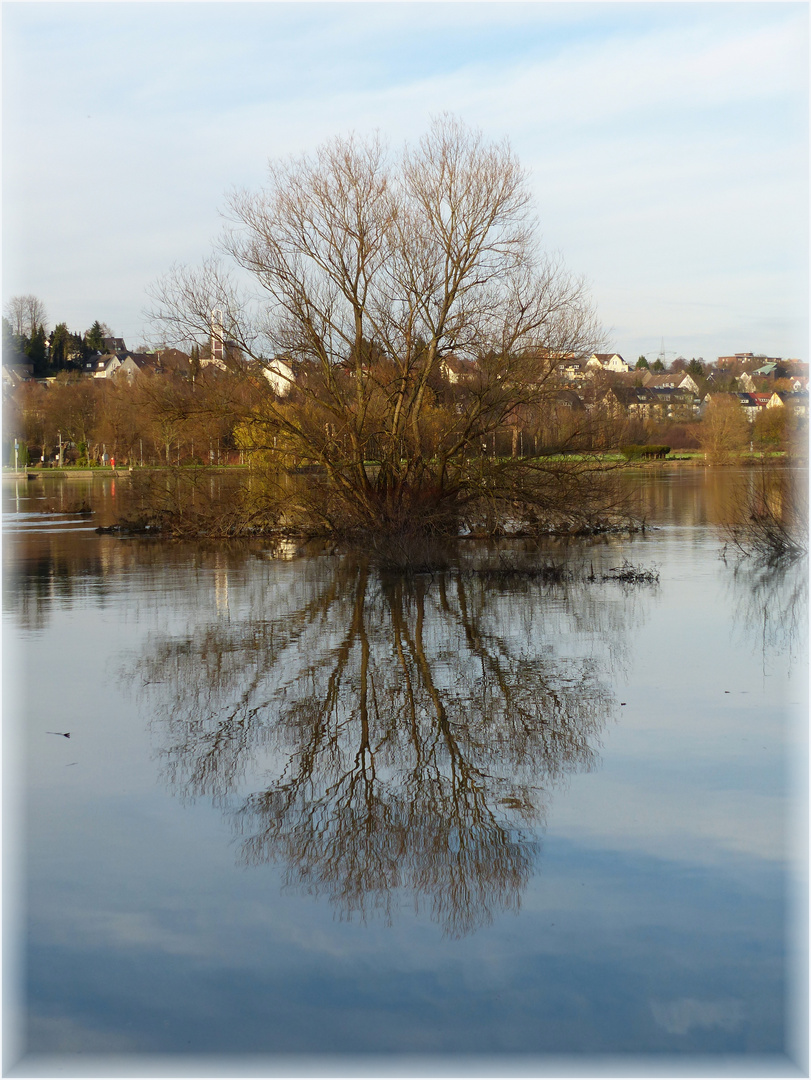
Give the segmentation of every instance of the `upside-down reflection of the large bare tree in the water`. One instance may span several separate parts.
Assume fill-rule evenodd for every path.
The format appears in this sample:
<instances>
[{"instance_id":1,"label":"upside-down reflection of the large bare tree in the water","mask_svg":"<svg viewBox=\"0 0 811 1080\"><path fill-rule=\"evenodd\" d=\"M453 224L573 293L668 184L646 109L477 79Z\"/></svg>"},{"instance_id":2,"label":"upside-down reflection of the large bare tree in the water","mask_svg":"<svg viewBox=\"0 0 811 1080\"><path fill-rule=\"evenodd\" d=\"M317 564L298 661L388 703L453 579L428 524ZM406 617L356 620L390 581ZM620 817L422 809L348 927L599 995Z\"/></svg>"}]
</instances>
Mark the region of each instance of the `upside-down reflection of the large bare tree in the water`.
<instances>
[{"instance_id":1,"label":"upside-down reflection of the large bare tree in the water","mask_svg":"<svg viewBox=\"0 0 811 1080\"><path fill-rule=\"evenodd\" d=\"M298 565L292 594L139 661L172 786L344 916L390 916L397 889L455 935L517 908L546 792L593 767L611 710L587 586Z\"/></svg>"}]
</instances>

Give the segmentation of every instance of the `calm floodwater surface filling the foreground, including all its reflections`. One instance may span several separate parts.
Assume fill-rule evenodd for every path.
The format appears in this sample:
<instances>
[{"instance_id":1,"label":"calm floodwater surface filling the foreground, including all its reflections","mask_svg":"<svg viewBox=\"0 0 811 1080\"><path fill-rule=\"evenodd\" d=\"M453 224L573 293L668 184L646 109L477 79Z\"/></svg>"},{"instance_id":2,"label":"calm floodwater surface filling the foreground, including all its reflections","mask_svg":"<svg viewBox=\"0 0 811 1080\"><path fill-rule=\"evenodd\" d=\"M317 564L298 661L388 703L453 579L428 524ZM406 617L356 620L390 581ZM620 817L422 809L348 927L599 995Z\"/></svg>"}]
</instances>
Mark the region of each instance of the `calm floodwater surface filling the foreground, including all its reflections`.
<instances>
[{"instance_id":1,"label":"calm floodwater surface filling the foreground, including all its reflections","mask_svg":"<svg viewBox=\"0 0 811 1080\"><path fill-rule=\"evenodd\" d=\"M807 1075L808 571L733 480L413 578L4 481L4 1075Z\"/></svg>"}]
</instances>

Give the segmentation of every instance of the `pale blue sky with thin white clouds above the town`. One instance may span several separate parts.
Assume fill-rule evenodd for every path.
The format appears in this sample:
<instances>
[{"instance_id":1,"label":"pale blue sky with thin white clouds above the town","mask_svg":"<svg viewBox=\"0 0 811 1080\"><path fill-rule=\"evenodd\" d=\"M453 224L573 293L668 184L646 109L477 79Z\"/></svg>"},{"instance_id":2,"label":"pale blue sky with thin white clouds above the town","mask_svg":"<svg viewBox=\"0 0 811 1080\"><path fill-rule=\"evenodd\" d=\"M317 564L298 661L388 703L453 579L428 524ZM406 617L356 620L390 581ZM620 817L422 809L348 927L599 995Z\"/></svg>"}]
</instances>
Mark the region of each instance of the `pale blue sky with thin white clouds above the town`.
<instances>
[{"instance_id":1,"label":"pale blue sky with thin white clouds above the town","mask_svg":"<svg viewBox=\"0 0 811 1080\"><path fill-rule=\"evenodd\" d=\"M807 3L2 4L2 300L158 343L269 160L508 137L607 347L809 359Z\"/></svg>"}]
</instances>

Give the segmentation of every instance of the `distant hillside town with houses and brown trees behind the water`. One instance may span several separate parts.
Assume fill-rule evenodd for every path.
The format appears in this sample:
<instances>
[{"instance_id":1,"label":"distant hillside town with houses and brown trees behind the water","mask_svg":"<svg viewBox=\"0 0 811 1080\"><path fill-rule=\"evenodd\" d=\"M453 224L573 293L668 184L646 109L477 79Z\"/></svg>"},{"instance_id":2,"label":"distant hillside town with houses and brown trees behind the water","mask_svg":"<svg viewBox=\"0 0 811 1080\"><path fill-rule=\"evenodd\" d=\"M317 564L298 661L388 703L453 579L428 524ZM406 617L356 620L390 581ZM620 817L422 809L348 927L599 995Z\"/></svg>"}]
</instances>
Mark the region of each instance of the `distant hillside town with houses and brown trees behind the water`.
<instances>
[{"instance_id":1,"label":"distant hillside town with houses and brown trees behind the water","mask_svg":"<svg viewBox=\"0 0 811 1080\"><path fill-rule=\"evenodd\" d=\"M470 357L447 353L437 367L438 397L477 378ZM548 354L542 370L543 408L516 408L484 453L713 454L719 441L726 450L781 450L808 428L808 363L797 359ZM65 323L49 333L41 302L15 297L3 318L3 464L243 462L241 427L255 401L287 399L307 377L289 357L246 355L214 322L189 351L131 350L98 321L81 334Z\"/></svg>"}]
</instances>

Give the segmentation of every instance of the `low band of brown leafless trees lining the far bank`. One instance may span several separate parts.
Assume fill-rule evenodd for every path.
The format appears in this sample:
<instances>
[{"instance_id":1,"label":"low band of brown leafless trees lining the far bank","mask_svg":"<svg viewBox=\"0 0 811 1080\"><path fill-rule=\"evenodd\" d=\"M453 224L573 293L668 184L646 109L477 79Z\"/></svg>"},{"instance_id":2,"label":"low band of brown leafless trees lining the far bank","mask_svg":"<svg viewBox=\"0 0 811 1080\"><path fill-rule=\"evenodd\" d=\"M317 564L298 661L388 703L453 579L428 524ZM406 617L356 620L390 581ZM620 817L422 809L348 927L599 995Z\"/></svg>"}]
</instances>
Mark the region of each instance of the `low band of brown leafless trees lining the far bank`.
<instances>
[{"instance_id":1,"label":"low band of brown leafless trees lining the far bank","mask_svg":"<svg viewBox=\"0 0 811 1080\"><path fill-rule=\"evenodd\" d=\"M92 379L63 372L48 384L28 380L3 403L3 463L127 465L261 463L251 436L251 418L270 393L265 379L203 367L194 380L177 373L144 373ZM616 450L627 444L664 444L673 449L736 453L796 445L807 420L787 408L763 409L754 424L738 404L716 397L701 420L672 422L611 416L600 408L573 411L550 397L542 409L523 409L515 423L483 444L489 456L535 456L556 449ZM292 462L298 463L298 462Z\"/></svg>"}]
</instances>

